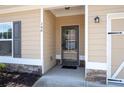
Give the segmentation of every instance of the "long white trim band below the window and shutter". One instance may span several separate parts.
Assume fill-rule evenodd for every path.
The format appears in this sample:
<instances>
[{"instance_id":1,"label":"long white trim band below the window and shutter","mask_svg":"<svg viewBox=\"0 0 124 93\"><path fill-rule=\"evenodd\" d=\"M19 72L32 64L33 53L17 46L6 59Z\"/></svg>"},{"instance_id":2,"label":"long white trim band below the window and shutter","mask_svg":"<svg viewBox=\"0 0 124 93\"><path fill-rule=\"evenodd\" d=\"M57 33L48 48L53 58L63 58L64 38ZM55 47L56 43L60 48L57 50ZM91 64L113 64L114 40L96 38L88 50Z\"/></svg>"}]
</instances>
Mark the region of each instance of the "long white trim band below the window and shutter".
<instances>
[{"instance_id":1,"label":"long white trim band below the window and shutter","mask_svg":"<svg viewBox=\"0 0 124 93\"><path fill-rule=\"evenodd\" d=\"M40 66L42 66L42 61L40 59L13 58L13 57L0 57L0 63L40 65Z\"/></svg>"}]
</instances>

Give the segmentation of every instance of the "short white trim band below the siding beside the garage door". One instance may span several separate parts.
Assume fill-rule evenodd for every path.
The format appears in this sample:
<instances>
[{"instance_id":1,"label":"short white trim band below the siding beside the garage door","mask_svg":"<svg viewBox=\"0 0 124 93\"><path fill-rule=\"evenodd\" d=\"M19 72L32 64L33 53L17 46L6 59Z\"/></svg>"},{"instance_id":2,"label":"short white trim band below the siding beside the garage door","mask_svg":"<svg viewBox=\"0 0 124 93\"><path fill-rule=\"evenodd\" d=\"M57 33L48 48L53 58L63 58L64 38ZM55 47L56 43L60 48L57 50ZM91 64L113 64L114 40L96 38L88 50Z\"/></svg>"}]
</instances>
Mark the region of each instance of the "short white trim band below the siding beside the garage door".
<instances>
[{"instance_id":1,"label":"short white trim band below the siding beside the garage door","mask_svg":"<svg viewBox=\"0 0 124 93\"><path fill-rule=\"evenodd\" d=\"M87 62L86 69L107 70L107 63Z\"/></svg>"}]
</instances>

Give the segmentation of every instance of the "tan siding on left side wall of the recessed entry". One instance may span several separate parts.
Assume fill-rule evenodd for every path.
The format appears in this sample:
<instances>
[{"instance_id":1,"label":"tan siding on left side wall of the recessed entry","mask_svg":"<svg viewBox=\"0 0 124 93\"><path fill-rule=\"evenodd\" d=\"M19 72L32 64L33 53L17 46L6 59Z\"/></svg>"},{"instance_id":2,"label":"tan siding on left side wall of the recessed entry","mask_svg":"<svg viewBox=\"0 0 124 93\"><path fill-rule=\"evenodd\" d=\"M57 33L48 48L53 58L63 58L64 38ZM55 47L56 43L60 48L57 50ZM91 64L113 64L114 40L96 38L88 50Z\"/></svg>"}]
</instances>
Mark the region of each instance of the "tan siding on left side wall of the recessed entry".
<instances>
[{"instance_id":1,"label":"tan siding on left side wall of the recessed entry","mask_svg":"<svg viewBox=\"0 0 124 93\"><path fill-rule=\"evenodd\" d=\"M44 70L47 72L55 64L55 16L49 11L44 11Z\"/></svg>"}]
</instances>

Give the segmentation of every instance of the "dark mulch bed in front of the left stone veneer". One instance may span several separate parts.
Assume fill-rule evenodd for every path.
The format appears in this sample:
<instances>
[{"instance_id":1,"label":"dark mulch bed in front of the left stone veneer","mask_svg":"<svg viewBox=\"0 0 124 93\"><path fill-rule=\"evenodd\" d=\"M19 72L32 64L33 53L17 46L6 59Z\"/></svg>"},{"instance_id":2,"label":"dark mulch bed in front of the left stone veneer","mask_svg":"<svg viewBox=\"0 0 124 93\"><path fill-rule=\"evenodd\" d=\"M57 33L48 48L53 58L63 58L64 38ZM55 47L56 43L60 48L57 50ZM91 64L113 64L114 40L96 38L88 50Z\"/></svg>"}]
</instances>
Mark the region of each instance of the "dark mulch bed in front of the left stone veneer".
<instances>
[{"instance_id":1,"label":"dark mulch bed in front of the left stone veneer","mask_svg":"<svg viewBox=\"0 0 124 93\"><path fill-rule=\"evenodd\" d=\"M0 87L31 87L40 77L30 73L0 72Z\"/></svg>"}]
</instances>

